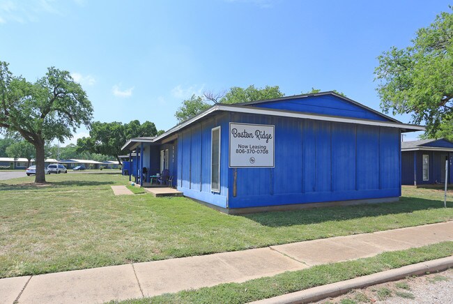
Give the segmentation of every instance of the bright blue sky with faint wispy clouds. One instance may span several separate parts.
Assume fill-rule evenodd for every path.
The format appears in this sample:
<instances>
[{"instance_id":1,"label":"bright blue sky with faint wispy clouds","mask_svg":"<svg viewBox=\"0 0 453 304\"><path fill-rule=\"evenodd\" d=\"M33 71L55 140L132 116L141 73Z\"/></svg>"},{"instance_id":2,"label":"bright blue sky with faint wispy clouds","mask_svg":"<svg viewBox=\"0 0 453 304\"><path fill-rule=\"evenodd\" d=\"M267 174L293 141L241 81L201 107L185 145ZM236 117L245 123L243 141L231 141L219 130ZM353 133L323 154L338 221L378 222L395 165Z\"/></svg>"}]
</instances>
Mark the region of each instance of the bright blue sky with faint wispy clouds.
<instances>
[{"instance_id":1,"label":"bright blue sky with faint wispy clouds","mask_svg":"<svg viewBox=\"0 0 453 304\"><path fill-rule=\"evenodd\" d=\"M176 125L174 113L192 94L251 84L277 85L286 96L335 89L381 111L376 57L410 45L448 5L0 0L0 61L31 82L50 66L68 70L88 93L94 121L138 119L158 130ZM88 133L80 128L65 144Z\"/></svg>"}]
</instances>

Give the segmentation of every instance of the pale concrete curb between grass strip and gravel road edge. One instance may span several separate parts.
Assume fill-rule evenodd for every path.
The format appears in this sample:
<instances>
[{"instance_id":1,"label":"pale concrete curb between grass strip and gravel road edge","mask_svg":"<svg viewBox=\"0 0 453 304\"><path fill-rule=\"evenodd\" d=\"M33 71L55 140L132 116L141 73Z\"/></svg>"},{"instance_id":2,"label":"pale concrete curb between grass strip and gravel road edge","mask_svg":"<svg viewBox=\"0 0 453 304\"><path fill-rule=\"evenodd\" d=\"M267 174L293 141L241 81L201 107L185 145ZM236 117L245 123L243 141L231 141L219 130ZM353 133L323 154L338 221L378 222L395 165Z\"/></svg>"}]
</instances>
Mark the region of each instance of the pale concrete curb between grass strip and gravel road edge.
<instances>
[{"instance_id":1,"label":"pale concrete curb between grass strip and gravel road edge","mask_svg":"<svg viewBox=\"0 0 453 304\"><path fill-rule=\"evenodd\" d=\"M410 275L424 275L425 273L433 273L443 271L453 267L453 256L444 257L442 259L434 259L432 261L424 261L422 263L404 266L390 271L374 273L372 275L364 275L360 278L354 278L343 282L336 282L323 286L318 286L302 291L296 291L291 294L284 294L274 298L266 298L264 300L255 301L256 304L286 304L286 303L309 303L320 301L324 298L340 296L346 294L352 289L360 289L371 285L381 284L385 282L397 281L404 279Z\"/></svg>"}]
</instances>

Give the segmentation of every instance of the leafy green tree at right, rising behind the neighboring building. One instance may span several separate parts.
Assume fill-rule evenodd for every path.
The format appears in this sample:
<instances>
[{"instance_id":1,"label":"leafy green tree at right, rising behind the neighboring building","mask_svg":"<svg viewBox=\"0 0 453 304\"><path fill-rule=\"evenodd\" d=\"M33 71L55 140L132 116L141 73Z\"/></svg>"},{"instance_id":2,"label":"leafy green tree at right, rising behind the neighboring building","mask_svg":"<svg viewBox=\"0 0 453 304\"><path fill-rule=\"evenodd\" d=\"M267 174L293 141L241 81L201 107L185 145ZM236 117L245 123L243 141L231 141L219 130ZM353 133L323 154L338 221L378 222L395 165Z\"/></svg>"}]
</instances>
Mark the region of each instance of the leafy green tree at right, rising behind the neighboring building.
<instances>
[{"instance_id":1,"label":"leafy green tree at right, rising behind the neighboring building","mask_svg":"<svg viewBox=\"0 0 453 304\"><path fill-rule=\"evenodd\" d=\"M384 112L411 114L412 123L426 123L428 137L452 125L452 39L453 15L440 13L417 31L412 45L392 47L378 56L374 71Z\"/></svg>"}]
</instances>

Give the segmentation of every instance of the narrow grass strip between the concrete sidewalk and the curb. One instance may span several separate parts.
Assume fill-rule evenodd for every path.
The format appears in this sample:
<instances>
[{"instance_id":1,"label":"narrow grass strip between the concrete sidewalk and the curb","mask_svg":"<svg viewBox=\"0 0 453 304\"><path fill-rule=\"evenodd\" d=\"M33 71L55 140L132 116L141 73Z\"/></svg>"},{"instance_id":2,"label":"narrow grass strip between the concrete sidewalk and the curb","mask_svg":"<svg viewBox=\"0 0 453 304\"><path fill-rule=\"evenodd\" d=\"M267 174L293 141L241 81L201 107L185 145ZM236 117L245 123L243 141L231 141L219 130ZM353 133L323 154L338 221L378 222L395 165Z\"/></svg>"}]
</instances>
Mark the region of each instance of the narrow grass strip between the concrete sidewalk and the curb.
<instances>
[{"instance_id":1,"label":"narrow grass strip between the concrete sidewalk and the curb","mask_svg":"<svg viewBox=\"0 0 453 304\"><path fill-rule=\"evenodd\" d=\"M370 275L422 261L448 257L452 254L453 242L443 242L421 248L385 252L376 255L376 257L313 266L302 271L286 272L273 277L249 280L244 283L220 284L215 287L180 291L176 294L131 299L121 303L248 303L316 286L350 280L362 275ZM387 298L387 296L392 294L392 291L382 288L377 290L377 294L381 298Z\"/></svg>"}]
</instances>

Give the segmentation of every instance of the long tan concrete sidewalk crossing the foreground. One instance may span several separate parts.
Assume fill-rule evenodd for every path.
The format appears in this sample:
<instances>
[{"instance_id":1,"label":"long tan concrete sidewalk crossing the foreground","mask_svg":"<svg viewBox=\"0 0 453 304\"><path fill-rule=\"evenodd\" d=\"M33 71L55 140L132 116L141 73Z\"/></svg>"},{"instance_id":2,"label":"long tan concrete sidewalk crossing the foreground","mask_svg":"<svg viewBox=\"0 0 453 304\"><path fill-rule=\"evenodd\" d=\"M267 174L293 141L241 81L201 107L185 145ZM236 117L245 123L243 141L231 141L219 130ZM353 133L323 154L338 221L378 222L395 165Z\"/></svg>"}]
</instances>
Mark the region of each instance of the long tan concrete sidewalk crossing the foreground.
<instances>
[{"instance_id":1,"label":"long tan concrete sidewalk crossing the foreground","mask_svg":"<svg viewBox=\"0 0 453 304\"><path fill-rule=\"evenodd\" d=\"M295 271L453 241L453 222L238 252L0 280L0 303L102 303Z\"/></svg>"}]
</instances>

